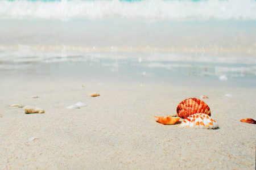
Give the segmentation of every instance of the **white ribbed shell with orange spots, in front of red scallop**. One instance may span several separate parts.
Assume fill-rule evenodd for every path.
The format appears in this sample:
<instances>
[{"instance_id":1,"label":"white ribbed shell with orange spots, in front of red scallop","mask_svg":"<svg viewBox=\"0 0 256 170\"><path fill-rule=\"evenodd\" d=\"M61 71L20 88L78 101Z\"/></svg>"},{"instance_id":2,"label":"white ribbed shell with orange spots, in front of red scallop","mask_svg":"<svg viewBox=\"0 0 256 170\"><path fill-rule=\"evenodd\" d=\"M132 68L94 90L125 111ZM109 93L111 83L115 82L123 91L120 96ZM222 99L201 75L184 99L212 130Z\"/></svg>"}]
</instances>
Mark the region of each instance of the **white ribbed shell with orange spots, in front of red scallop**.
<instances>
[{"instance_id":1,"label":"white ribbed shell with orange spots, in front of red scallop","mask_svg":"<svg viewBox=\"0 0 256 170\"><path fill-rule=\"evenodd\" d=\"M197 113L183 120L180 126L181 128L216 129L218 128L218 123L207 114Z\"/></svg>"}]
</instances>

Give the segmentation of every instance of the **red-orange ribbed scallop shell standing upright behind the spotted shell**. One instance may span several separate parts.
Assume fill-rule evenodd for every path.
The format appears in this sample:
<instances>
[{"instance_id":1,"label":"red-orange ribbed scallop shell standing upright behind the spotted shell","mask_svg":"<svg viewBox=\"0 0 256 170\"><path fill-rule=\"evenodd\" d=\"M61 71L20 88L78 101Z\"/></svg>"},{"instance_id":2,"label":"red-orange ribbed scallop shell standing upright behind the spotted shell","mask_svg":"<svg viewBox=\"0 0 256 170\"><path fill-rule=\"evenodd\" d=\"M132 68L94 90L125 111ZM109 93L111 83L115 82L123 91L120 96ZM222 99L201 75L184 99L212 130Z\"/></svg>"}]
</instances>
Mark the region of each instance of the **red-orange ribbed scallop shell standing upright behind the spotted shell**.
<instances>
[{"instance_id":1,"label":"red-orange ribbed scallop shell standing upright behind the spotted shell","mask_svg":"<svg viewBox=\"0 0 256 170\"><path fill-rule=\"evenodd\" d=\"M210 116L210 108L203 100L196 98L185 99L177 106L177 116L187 118L195 113L205 113Z\"/></svg>"}]
</instances>

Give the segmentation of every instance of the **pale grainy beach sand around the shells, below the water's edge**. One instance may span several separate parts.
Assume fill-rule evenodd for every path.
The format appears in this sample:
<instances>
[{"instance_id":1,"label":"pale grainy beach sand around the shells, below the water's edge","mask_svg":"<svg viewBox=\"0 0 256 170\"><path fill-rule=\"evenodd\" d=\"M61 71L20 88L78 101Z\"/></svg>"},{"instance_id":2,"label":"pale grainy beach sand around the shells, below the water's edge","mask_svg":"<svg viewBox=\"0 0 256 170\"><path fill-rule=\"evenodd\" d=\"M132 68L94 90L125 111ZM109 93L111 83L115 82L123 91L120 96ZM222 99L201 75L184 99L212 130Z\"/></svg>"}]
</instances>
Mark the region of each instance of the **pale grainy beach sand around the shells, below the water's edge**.
<instances>
[{"instance_id":1,"label":"pale grainy beach sand around the shells, below the water's edge","mask_svg":"<svg viewBox=\"0 0 256 170\"><path fill-rule=\"evenodd\" d=\"M256 119L255 88L3 78L0 91L0 169L255 169L256 126L240 122ZM200 95L219 129L155 122Z\"/></svg>"}]
</instances>

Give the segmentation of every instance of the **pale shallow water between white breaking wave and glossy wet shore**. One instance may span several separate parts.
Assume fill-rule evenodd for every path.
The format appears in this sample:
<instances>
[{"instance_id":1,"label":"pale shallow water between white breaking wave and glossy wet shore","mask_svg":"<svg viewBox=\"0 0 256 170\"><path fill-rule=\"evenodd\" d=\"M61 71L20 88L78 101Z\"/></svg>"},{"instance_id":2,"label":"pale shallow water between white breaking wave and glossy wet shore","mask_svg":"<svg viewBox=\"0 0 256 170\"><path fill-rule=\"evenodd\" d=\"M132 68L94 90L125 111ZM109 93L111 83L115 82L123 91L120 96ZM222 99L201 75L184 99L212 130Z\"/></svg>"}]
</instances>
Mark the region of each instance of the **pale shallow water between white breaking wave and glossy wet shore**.
<instances>
[{"instance_id":1,"label":"pale shallow water between white breaking wave and glossy wet shore","mask_svg":"<svg viewBox=\"0 0 256 170\"><path fill-rule=\"evenodd\" d=\"M0 21L2 51L256 54L255 22L251 20Z\"/></svg>"}]
</instances>

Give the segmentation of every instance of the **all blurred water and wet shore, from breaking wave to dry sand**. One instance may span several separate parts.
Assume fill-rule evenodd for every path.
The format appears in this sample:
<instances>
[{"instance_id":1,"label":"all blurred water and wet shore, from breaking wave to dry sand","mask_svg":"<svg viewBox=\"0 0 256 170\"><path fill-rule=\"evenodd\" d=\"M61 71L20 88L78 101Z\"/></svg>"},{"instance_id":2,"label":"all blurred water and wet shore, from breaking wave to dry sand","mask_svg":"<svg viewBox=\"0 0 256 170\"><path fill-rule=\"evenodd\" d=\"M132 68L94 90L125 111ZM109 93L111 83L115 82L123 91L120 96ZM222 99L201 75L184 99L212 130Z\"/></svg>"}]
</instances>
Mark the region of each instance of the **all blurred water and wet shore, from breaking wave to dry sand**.
<instances>
[{"instance_id":1,"label":"all blurred water and wet shore, from breaking wave to dry sand","mask_svg":"<svg viewBox=\"0 0 256 170\"><path fill-rule=\"evenodd\" d=\"M135 69L138 78L225 75L253 86L255 58L254 0L0 1L1 76Z\"/></svg>"}]
</instances>

